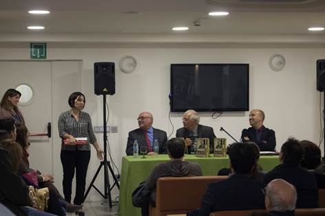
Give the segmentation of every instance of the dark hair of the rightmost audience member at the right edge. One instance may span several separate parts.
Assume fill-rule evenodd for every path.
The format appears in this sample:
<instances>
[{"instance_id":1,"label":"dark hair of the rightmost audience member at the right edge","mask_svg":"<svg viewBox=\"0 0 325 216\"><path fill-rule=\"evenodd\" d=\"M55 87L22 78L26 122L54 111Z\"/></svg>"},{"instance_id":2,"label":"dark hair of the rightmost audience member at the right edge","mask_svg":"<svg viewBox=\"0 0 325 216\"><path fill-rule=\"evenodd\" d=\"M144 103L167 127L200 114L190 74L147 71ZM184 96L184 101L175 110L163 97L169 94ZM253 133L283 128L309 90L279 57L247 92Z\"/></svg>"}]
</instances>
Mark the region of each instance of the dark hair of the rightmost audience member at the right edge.
<instances>
[{"instance_id":1,"label":"dark hair of the rightmost audience member at the right edge","mask_svg":"<svg viewBox=\"0 0 325 216\"><path fill-rule=\"evenodd\" d=\"M315 169L318 167L322 160L322 153L319 147L311 141L300 141L300 144L304 147L304 157L300 166L306 169Z\"/></svg>"}]
</instances>

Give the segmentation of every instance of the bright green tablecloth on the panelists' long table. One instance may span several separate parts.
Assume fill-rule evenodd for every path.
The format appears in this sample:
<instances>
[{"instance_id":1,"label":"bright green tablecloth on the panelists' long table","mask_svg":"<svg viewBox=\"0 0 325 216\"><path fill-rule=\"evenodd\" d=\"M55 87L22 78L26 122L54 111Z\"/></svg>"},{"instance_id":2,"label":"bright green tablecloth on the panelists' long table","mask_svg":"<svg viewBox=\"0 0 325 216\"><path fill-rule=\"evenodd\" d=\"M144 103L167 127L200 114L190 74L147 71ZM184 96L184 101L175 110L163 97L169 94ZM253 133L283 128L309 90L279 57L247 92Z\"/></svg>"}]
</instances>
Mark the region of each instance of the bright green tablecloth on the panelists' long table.
<instances>
[{"instance_id":1,"label":"bright green tablecloth on the panelists' long table","mask_svg":"<svg viewBox=\"0 0 325 216\"><path fill-rule=\"evenodd\" d=\"M124 156L122 159L122 173L120 178L120 197L118 203L118 215L140 216L140 208L132 206L132 192L140 182L147 180L151 170L158 163L169 160L168 155L161 154L158 157L133 158ZM185 155L185 160L196 162L202 167L203 176L214 176L223 167L229 167L229 158L198 158L191 154ZM264 171L270 171L278 165L279 156L261 156L259 164Z\"/></svg>"}]
</instances>

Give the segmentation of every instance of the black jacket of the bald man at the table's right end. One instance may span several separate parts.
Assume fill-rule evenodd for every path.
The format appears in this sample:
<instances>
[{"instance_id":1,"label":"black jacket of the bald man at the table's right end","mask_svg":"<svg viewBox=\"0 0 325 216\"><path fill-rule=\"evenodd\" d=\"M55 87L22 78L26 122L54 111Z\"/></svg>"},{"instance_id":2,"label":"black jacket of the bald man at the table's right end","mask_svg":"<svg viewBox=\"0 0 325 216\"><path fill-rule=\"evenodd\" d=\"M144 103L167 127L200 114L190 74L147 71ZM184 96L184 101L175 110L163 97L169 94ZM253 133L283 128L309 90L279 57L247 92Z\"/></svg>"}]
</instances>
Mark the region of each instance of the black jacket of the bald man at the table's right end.
<instances>
[{"instance_id":1,"label":"black jacket of the bald man at the table's right end","mask_svg":"<svg viewBox=\"0 0 325 216\"><path fill-rule=\"evenodd\" d=\"M262 125L262 134L260 141L256 139L256 130L251 127L248 129L242 130L242 141L245 142L244 137L248 136L250 142L254 142L258 144L258 147L260 147L260 151L275 151L275 132L274 130L271 130L269 128L265 128L264 125Z\"/></svg>"}]
</instances>

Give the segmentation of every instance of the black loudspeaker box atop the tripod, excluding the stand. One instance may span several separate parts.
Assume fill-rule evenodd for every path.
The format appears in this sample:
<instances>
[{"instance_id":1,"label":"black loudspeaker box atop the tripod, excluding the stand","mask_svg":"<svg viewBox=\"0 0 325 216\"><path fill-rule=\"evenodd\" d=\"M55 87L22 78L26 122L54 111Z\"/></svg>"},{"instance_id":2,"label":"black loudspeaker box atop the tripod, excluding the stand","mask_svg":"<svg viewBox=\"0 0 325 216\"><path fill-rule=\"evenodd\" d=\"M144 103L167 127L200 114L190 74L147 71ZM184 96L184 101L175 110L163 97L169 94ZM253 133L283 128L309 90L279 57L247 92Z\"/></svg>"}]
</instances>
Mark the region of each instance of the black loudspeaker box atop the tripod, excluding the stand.
<instances>
[{"instance_id":1,"label":"black loudspeaker box atop the tripod, excluding the stand","mask_svg":"<svg viewBox=\"0 0 325 216\"><path fill-rule=\"evenodd\" d=\"M96 95L115 94L115 63L95 62L94 80Z\"/></svg>"}]
</instances>

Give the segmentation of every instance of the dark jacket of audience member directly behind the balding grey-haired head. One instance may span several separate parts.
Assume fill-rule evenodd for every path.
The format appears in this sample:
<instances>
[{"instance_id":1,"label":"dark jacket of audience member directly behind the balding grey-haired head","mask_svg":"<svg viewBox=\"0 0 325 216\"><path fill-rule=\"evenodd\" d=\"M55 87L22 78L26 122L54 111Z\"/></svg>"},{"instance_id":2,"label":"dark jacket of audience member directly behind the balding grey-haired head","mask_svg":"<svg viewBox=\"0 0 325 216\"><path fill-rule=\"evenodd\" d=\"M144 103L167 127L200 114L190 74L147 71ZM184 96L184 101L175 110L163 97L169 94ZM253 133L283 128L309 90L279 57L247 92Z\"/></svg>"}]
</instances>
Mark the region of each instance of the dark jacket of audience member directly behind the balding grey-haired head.
<instances>
[{"instance_id":1,"label":"dark jacket of audience member directly behind the balding grey-haired head","mask_svg":"<svg viewBox=\"0 0 325 216\"><path fill-rule=\"evenodd\" d=\"M282 178L297 190L296 208L318 208L317 182L313 173L294 164L277 165L264 176L264 184Z\"/></svg>"}]
</instances>

